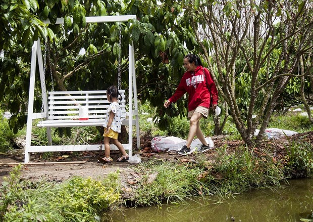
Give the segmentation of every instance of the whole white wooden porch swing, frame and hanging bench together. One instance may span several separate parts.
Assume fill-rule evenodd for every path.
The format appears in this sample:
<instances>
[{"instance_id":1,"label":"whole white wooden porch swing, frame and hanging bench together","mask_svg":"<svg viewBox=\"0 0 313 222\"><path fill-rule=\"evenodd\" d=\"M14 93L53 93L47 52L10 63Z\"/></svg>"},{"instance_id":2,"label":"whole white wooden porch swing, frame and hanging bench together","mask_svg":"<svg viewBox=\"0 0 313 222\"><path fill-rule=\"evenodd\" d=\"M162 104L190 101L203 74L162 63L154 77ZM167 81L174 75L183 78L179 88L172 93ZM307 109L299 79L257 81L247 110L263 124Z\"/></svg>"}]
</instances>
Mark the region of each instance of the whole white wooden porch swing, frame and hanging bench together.
<instances>
[{"instance_id":1,"label":"whole white wooden porch swing, frame and hanging bench together","mask_svg":"<svg viewBox=\"0 0 313 222\"><path fill-rule=\"evenodd\" d=\"M86 17L86 23L101 22L123 22L129 19L136 19L135 15L126 16L99 16ZM57 19L56 24L64 24L64 18ZM121 30L120 30L121 31ZM119 44L121 45L121 35ZM132 156L132 126L136 126L137 148L140 148L139 138L139 118L138 118L138 102L137 102L137 85L135 75L135 61L133 44L129 44L129 78L128 78L128 112L126 112L125 90L121 90L121 73L119 58L119 92L122 94L120 105L123 110L125 119L122 124L128 125L129 137L128 144L123 144L125 150L128 150L129 156ZM42 92L42 111L41 113L33 113L34 94L35 94L35 74L36 62L38 60L39 74ZM32 47L30 84L29 84L29 102L28 117L26 130L26 147L24 162L29 162L29 154L34 152L60 152L60 151L100 151L104 150L103 145L52 145L51 127L74 127L74 126L101 126L105 118L106 108L109 106L105 91L67 91L67 92L49 92L47 98L45 86L45 73L40 47L40 40L34 41ZM53 90L54 91L54 90ZM134 97L134 98L133 98ZM79 119L79 105L84 105L88 109L87 120ZM134 109L133 109L134 106ZM135 119L133 119L135 117ZM42 119L37 126L46 127L48 146L31 146L32 125L34 119ZM111 145L111 150L117 150L115 145Z\"/></svg>"}]
</instances>

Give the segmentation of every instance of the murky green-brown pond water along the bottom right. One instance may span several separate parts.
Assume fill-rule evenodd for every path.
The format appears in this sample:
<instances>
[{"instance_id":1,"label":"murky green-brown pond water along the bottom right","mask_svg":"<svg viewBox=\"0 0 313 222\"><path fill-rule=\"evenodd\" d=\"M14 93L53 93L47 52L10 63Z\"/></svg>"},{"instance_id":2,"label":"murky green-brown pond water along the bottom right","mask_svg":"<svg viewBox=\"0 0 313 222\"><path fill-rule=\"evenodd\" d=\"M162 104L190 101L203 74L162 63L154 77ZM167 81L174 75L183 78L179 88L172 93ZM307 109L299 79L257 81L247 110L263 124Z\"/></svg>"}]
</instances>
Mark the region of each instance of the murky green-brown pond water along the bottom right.
<instances>
[{"instance_id":1,"label":"murky green-brown pond water along the bottom right","mask_svg":"<svg viewBox=\"0 0 313 222\"><path fill-rule=\"evenodd\" d=\"M127 208L110 221L313 221L313 179L290 180L283 189L254 190L222 202L195 199L188 204ZM308 220L310 221L310 220Z\"/></svg>"}]
</instances>

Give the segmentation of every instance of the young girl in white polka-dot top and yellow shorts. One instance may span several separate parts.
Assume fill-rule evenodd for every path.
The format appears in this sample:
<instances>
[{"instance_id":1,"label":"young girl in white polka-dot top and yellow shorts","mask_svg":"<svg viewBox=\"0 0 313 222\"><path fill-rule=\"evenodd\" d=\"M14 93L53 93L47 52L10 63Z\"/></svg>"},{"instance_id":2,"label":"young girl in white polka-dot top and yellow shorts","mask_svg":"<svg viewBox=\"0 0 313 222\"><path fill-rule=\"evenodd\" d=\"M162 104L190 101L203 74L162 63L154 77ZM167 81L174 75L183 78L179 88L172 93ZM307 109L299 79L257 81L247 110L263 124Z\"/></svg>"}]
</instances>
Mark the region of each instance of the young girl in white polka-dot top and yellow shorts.
<instances>
[{"instance_id":1,"label":"young girl in white polka-dot top and yellow shorts","mask_svg":"<svg viewBox=\"0 0 313 222\"><path fill-rule=\"evenodd\" d=\"M98 160L103 163L110 163L113 159L110 157L110 142L112 142L122 153L122 156L117 160L118 162L128 161L129 156L126 153L123 145L118 141L119 132L121 132L121 107L118 103L119 91L114 85L110 86L107 90L107 98L111 103L108 110L106 121L103 126L105 133L103 143L105 144L105 157L98 157Z\"/></svg>"}]
</instances>

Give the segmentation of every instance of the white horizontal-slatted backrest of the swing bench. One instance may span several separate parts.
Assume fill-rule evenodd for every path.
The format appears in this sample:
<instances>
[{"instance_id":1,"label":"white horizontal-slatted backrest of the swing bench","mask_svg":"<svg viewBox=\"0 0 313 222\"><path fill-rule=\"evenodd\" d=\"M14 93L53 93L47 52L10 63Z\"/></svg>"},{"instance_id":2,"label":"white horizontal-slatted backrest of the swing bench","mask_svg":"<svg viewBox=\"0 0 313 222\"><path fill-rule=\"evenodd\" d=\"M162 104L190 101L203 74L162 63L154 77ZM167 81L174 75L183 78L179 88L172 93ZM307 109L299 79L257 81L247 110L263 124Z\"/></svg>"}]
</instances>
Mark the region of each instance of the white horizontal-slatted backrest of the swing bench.
<instances>
[{"instance_id":1,"label":"white horizontal-slatted backrest of the swing bench","mask_svg":"<svg viewBox=\"0 0 313 222\"><path fill-rule=\"evenodd\" d=\"M119 101L122 109L121 117L125 119L125 90L120 90L119 92L122 96L122 99ZM105 119L110 105L107 99L107 91L49 92L48 95L49 120L77 120L79 119L80 105L88 107L89 119Z\"/></svg>"}]
</instances>

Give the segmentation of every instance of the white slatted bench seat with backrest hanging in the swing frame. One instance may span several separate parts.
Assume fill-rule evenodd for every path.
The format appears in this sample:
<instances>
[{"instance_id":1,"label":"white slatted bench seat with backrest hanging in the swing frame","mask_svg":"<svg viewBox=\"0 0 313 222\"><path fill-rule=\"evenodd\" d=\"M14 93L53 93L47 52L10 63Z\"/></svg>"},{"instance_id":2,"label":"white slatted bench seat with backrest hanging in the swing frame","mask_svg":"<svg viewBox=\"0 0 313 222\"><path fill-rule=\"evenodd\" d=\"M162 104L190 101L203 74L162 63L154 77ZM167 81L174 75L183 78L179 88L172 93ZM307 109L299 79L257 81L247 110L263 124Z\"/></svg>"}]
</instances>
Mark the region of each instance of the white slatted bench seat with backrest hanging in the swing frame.
<instances>
[{"instance_id":1,"label":"white slatted bench seat with backrest hanging in the swing frame","mask_svg":"<svg viewBox=\"0 0 313 222\"><path fill-rule=\"evenodd\" d=\"M121 90L120 94L122 125L128 125L125 90ZM44 120L38 122L39 127L102 126L105 122L110 105L107 91L49 92L48 95L48 113L42 113ZM80 120L80 106L88 109L87 120ZM133 111L133 116L136 115L137 112ZM135 120L132 124L135 125Z\"/></svg>"}]
</instances>

